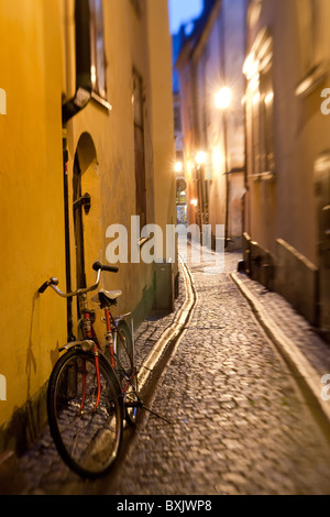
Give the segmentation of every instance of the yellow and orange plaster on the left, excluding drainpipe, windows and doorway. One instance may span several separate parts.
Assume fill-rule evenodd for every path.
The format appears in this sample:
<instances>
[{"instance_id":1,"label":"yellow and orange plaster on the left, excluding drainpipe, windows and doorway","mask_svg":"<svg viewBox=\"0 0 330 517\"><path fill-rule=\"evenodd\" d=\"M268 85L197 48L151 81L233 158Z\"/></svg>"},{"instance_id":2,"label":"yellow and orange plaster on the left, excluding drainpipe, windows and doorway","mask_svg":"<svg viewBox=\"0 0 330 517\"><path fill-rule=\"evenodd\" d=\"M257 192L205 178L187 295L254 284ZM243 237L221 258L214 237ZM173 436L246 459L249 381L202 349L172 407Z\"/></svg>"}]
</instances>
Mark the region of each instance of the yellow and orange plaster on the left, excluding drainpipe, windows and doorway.
<instances>
[{"instance_id":1,"label":"yellow and orange plaster on the left, excluding drainpipe, windows and doorway","mask_svg":"<svg viewBox=\"0 0 330 517\"><path fill-rule=\"evenodd\" d=\"M45 384L66 341L66 301L51 289L38 296L37 288L51 276L58 277L63 290L66 286L62 96L68 99L75 90L73 6L73 0L0 0L0 13L6 13L0 18L0 88L8 97L7 116L0 116L0 375L6 376L8 398L0 402L0 428ZM148 222L175 223L167 3L144 0L141 6L138 15L129 0L103 2L113 109L107 112L91 101L67 127L73 288L73 169L82 134L95 152L82 176L82 194L91 195L85 217L88 283L94 279L91 264L106 262L108 226L130 230L135 215L133 67L143 75L146 94ZM152 284L153 265L123 264L119 275L105 276L103 286L123 290L122 312L136 308ZM75 316L75 302L73 308Z\"/></svg>"}]
</instances>

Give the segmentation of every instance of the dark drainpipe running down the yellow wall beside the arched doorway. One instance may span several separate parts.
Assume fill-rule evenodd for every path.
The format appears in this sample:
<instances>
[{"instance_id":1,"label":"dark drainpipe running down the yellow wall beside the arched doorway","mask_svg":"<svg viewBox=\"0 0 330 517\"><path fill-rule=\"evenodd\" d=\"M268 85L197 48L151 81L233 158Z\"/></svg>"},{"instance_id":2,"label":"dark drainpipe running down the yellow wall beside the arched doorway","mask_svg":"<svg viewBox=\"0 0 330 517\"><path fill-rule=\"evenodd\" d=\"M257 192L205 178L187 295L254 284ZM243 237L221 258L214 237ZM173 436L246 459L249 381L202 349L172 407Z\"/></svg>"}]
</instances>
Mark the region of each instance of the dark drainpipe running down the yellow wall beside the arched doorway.
<instances>
[{"instance_id":1,"label":"dark drainpipe running down the yellow wall beside the arched doorway","mask_svg":"<svg viewBox=\"0 0 330 517\"><path fill-rule=\"evenodd\" d=\"M91 98L90 76L90 12L88 0L76 0L75 2L76 24L76 94L73 99L62 106L63 125L63 178L64 178L64 216L65 216L65 264L66 264L66 288L72 289L70 266L70 231L69 231L69 196L68 196L68 148L67 148L67 123L79 113ZM68 341L75 341L73 333L73 299L67 299L67 337Z\"/></svg>"}]
</instances>

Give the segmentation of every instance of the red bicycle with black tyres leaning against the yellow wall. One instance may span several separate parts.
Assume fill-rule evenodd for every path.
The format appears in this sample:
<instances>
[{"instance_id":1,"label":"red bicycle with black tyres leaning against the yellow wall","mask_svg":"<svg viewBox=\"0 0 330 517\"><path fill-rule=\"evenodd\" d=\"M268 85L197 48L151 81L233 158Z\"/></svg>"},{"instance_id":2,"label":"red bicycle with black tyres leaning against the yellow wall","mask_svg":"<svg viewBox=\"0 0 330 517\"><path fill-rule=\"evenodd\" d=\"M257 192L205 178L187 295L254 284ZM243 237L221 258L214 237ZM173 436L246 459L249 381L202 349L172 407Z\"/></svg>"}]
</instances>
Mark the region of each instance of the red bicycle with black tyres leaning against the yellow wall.
<instances>
[{"instance_id":1,"label":"red bicycle with black tyres leaning against the yellow wall","mask_svg":"<svg viewBox=\"0 0 330 517\"><path fill-rule=\"evenodd\" d=\"M122 295L120 290L100 289L92 298L105 311L106 344L97 338L96 311L89 309L87 294L97 290L101 272L118 273L118 267L96 262L92 286L64 294L58 279L51 278L38 289L51 287L63 298L78 297L81 318L78 340L59 349L47 388L47 416L51 435L64 462L82 477L96 479L108 473L118 459L123 438L124 420L134 425L143 403L138 393L134 364L133 330L127 314L114 318L111 307ZM133 326L133 323L132 323Z\"/></svg>"}]
</instances>

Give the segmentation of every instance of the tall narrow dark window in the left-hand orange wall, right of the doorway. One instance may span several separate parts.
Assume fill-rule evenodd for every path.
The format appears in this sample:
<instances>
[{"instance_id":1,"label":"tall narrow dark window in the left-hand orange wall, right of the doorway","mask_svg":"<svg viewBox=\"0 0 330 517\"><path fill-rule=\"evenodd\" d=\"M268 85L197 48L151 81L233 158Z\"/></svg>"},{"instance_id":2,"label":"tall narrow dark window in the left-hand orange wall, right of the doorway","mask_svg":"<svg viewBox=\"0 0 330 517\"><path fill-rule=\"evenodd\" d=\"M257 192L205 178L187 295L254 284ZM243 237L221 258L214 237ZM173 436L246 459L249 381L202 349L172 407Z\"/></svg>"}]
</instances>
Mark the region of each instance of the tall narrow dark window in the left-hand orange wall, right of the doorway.
<instances>
[{"instance_id":1,"label":"tall narrow dark window in the left-hand orange wall, right of the doorway","mask_svg":"<svg viewBox=\"0 0 330 517\"><path fill-rule=\"evenodd\" d=\"M144 105L142 77L133 72L133 118L134 118L134 155L136 185L136 216L140 216L141 229L146 224L146 187L145 187L145 147L144 147Z\"/></svg>"}]
</instances>

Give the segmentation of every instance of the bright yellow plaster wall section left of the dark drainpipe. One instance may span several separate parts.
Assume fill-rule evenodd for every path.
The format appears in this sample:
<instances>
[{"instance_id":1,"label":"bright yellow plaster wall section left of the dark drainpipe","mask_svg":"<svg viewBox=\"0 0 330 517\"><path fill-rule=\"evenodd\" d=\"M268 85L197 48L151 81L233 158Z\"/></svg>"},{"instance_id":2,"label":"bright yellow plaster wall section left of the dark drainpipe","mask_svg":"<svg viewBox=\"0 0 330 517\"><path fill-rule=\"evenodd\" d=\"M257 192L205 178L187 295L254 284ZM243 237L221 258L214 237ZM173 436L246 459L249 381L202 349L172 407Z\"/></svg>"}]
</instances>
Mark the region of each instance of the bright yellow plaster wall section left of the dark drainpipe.
<instances>
[{"instance_id":1,"label":"bright yellow plaster wall section left of the dark drainpipe","mask_svg":"<svg viewBox=\"0 0 330 517\"><path fill-rule=\"evenodd\" d=\"M57 0L0 0L0 426L46 382L65 340L65 304L40 285L64 277L62 59Z\"/></svg>"}]
</instances>

